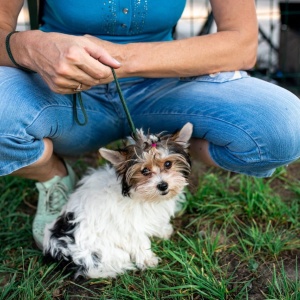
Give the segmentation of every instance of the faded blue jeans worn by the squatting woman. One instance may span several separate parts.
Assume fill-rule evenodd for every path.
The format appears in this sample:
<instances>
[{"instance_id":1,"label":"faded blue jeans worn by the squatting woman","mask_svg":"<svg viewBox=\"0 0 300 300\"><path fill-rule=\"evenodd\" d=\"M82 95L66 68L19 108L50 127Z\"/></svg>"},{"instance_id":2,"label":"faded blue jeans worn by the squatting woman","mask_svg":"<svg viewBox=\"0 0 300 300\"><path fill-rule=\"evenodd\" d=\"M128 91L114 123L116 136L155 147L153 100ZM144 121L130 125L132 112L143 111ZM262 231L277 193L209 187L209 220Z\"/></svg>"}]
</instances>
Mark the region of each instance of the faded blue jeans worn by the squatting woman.
<instances>
[{"instance_id":1,"label":"faded blue jeans worn by the squatting woman","mask_svg":"<svg viewBox=\"0 0 300 300\"><path fill-rule=\"evenodd\" d=\"M137 128L173 132L189 121L225 170L266 177L300 156L299 98L246 72L126 79L121 87ZM85 126L74 121L72 96L54 94L38 74L0 67L0 95L0 175L37 161L46 137L68 156L130 134L115 83L82 93Z\"/></svg>"}]
</instances>

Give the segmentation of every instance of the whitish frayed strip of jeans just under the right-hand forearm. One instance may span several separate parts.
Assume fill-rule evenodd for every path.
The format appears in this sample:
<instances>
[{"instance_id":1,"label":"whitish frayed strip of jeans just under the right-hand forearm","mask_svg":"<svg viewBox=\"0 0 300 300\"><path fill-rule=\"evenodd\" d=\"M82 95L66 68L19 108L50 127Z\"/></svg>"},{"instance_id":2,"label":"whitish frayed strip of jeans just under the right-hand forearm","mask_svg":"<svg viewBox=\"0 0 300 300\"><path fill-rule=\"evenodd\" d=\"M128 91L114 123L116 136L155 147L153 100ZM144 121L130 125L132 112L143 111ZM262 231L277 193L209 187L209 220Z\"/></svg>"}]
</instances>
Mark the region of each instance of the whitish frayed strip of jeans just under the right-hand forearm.
<instances>
[{"instance_id":1,"label":"whitish frayed strip of jeans just under the right-hand forearm","mask_svg":"<svg viewBox=\"0 0 300 300\"><path fill-rule=\"evenodd\" d=\"M193 77L180 77L181 81L206 81L223 83L233 81L241 78L249 77L245 71L233 71L233 72L219 72L209 75L193 76Z\"/></svg>"}]
</instances>

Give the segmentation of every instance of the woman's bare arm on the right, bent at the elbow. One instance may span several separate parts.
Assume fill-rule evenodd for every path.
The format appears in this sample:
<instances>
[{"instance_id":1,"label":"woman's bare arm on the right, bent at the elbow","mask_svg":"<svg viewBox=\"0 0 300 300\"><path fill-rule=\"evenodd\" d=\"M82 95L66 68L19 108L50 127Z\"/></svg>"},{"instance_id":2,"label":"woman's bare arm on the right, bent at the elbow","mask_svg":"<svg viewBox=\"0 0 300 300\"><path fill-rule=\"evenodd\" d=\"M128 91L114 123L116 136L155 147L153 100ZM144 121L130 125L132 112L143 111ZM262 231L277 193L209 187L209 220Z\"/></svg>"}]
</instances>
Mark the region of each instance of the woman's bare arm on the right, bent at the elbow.
<instances>
[{"instance_id":1,"label":"woman's bare arm on the right, bent at the elbow","mask_svg":"<svg viewBox=\"0 0 300 300\"><path fill-rule=\"evenodd\" d=\"M256 61L254 0L211 0L217 33L157 43L102 45L121 63L120 77L195 76L250 69Z\"/></svg>"}]
</instances>

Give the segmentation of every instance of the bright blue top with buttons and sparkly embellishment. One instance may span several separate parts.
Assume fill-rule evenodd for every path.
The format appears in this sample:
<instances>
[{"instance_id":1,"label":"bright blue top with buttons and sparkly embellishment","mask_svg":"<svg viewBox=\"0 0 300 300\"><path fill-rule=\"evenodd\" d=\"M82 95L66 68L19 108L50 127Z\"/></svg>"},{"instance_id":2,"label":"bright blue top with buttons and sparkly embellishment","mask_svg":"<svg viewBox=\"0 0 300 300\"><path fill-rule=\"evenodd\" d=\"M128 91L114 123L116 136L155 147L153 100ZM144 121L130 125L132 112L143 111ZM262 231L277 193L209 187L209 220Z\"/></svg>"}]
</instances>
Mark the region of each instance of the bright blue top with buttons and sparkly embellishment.
<instances>
[{"instance_id":1,"label":"bright blue top with buttons and sparkly embellishment","mask_svg":"<svg viewBox=\"0 0 300 300\"><path fill-rule=\"evenodd\" d=\"M168 41L185 0L46 0L41 30L116 43Z\"/></svg>"}]
</instances>

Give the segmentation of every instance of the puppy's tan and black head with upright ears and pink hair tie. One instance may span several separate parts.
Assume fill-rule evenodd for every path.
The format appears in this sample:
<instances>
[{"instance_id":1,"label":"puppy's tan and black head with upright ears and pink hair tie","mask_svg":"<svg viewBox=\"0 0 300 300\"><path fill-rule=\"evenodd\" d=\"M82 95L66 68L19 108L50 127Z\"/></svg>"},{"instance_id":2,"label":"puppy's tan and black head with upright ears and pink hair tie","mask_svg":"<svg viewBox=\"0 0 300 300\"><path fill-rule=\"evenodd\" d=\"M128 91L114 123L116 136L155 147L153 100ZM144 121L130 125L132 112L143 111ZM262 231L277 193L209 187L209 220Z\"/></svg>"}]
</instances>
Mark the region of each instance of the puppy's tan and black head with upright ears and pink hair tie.
<instances>
[{"instance_id":1,"label":"puppy's tan and black head with upright ears and pink hair tie","mask_svg":"<svg viewBox=\"0 0 300 300\"><path fill-rule=\"evenodd\" d=\"M188 154L193 126L187 123L174 134L147 134L137 130L132 143L117 151L101 148L103 158L122 178L124 196L146 201L171 199L186 186L191 171Z\"/></svg>"}]
</instances>

